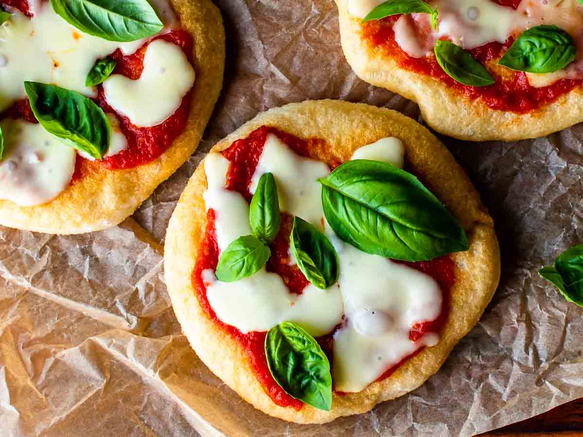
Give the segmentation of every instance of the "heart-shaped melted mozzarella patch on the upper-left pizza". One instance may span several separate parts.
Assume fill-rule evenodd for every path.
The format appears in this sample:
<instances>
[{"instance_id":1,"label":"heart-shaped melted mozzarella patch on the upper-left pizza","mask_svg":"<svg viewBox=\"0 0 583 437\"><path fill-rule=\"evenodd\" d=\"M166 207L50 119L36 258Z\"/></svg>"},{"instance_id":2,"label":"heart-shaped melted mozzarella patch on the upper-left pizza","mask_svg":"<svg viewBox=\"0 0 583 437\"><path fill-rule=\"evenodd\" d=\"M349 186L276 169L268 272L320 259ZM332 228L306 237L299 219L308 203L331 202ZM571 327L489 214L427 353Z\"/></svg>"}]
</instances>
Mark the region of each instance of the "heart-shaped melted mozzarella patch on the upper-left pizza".
<instances>
[{"instance_id":1,"label":"heart-shaped melted mozzarella patch on the upper-left pizza","mask_svg":"<svg viewBox=\"0 0 583 437\"><path fill-rule=\"evenodd\" d=\"M170 117L192 88L194 68L184 52L163 40L150 43L138 80L112 75L103 83L107 103L137 126L156 126Z\"/></svg>"}]
</instances>

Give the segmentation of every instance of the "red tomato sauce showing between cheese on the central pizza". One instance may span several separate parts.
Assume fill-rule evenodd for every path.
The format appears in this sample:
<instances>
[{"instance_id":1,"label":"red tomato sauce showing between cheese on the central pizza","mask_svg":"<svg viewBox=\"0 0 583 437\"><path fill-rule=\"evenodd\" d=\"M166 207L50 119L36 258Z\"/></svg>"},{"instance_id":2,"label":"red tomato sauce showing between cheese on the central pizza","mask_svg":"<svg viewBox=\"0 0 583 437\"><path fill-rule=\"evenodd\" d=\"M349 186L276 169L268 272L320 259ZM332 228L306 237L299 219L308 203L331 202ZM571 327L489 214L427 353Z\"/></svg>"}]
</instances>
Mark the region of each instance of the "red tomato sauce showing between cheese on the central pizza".
<instances>
[{"instance_id":1,"label":"red tomato sauce showing between cheese on the central pizza","mask_svg":"<svg viewBox=\"0 0 583 437\"><path fill-rule=\"evenodd\" d=\"M262 126L253 131L246 139L234 142L229 149L222 152L223 156L231 161L229 171L227 172L227 189L241 193L241 195L243 195L248 201L250 201L252 197L249 191L251 178L255 172L259 157L261 156L265 145L265 140L269 133L275 134L294 152L305 157L310 156L309 150L315 142L322 143L322 140L320 139L302 140L296 136L267 126ZM336 163L330 165L331 168L335 166ZM288 265L289 235L291 232L292 218L293 217L289 214L282 213L282 228L271 245L272 257L268 260L267 270L269 272L278 273L287 287L290 288L291 292L301 294L301 291L308 285L308 280L305 279L304 274L301 273L297 266ZM292 407L296 410L300 410L303 406L303 402L294 399L284 392L269 372L264 349L266 333L252 332L244 334L236 327L226 325L226 323L223 323L217 318L215 311L213 311L209 304L206 296L206 284L202 280L202 272L207 269L216 270L217 263L219 262L219 248L216 239L214 210L209 210L206 220L205 235L203 236L199 248L194 272L192 272L192 283L198 301L201 304L203 311L208 314L209 318L212 319L217 326L220 326L225 332L238 341L238 343L244 348L250 361L252 371L255 373L255 376L257 376L257 380L261 383L265 393L271 397L273 402L282 407ZM426 323L417 323L412 327L409 337L412 341L415 341L425 333L439 332L447 319L449 311L449 290L455 281L454 262L449 256L444 256L430 262L406 264L427 273L436 279L441 286L444 296L441 313L436 320ZM328 334L317 340L332 362L332 335ZM416 353L419 353L419 351ZM388 369L380 379L387 378L387 376L395 371L397 367L398 366L394 366L393 368Z\"/></svg>"}]
</instances>

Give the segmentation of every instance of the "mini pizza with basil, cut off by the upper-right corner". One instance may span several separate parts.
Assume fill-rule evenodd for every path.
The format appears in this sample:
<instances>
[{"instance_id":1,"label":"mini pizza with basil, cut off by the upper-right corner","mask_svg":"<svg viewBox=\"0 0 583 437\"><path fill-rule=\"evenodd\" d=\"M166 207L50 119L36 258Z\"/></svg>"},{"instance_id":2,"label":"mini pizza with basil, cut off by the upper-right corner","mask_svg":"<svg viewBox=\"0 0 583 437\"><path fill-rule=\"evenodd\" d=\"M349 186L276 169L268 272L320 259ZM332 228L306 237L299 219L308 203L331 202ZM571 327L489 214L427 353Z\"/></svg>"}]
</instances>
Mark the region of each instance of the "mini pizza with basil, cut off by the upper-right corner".
<instances>
[{"instance_id":1,"label":"mini pizza with basil, cut off by the upper-right corner","mask_svg":"<svg viewBox=\"0 0 583 437\"><path fill-rule=\"evenodd\" d=\"M361 79L455 138L537 138L583 121L577 0L336 0Z\"/></svg>"}]
</instances>

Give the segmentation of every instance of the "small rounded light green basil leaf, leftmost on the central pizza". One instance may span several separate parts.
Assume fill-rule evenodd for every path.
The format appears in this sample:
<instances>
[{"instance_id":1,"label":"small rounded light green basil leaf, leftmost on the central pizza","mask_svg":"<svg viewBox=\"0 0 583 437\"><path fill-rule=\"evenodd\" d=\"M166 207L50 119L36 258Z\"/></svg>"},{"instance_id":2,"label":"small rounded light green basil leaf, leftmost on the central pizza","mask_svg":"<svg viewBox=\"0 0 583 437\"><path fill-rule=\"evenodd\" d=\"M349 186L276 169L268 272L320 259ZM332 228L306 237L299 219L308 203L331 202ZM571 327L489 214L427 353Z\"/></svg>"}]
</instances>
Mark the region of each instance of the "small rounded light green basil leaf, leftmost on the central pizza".
<instances>
[{"instance_id":1,"label":"small rounded light green basil leaf, leftmost on the central pizza","mask_svg":"<svg viewBox=\"0 0 583 437\"><path fill-rule=\"evenodd\" d=\"M259 272L270 255L268 246L253 235L239 237L220 254L215 274L219 281L238 281Z\"/></svg>"}]
</instances>

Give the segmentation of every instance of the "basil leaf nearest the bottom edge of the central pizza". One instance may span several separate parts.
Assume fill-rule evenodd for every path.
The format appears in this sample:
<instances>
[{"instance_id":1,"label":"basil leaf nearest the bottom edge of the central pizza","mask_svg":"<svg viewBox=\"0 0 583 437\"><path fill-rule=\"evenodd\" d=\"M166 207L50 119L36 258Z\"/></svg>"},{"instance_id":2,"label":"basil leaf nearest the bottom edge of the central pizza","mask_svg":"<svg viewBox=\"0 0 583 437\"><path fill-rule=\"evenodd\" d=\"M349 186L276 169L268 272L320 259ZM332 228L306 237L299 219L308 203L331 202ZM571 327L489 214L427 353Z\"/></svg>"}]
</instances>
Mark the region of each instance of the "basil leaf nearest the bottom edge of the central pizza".
<instances>
[{"instance_id":1,"label":"basil leaf nearest the bottom edge of the central pizza","mask_svg":"<svg viewBox=\"0 0 583 437\"><path fill-rule=\"evenodd\" d=\"M314 337L293 323L280 323L265 337L265 356L287 394L319 410L332 408L330 364Z\"/></svg>"}]
</instances>

